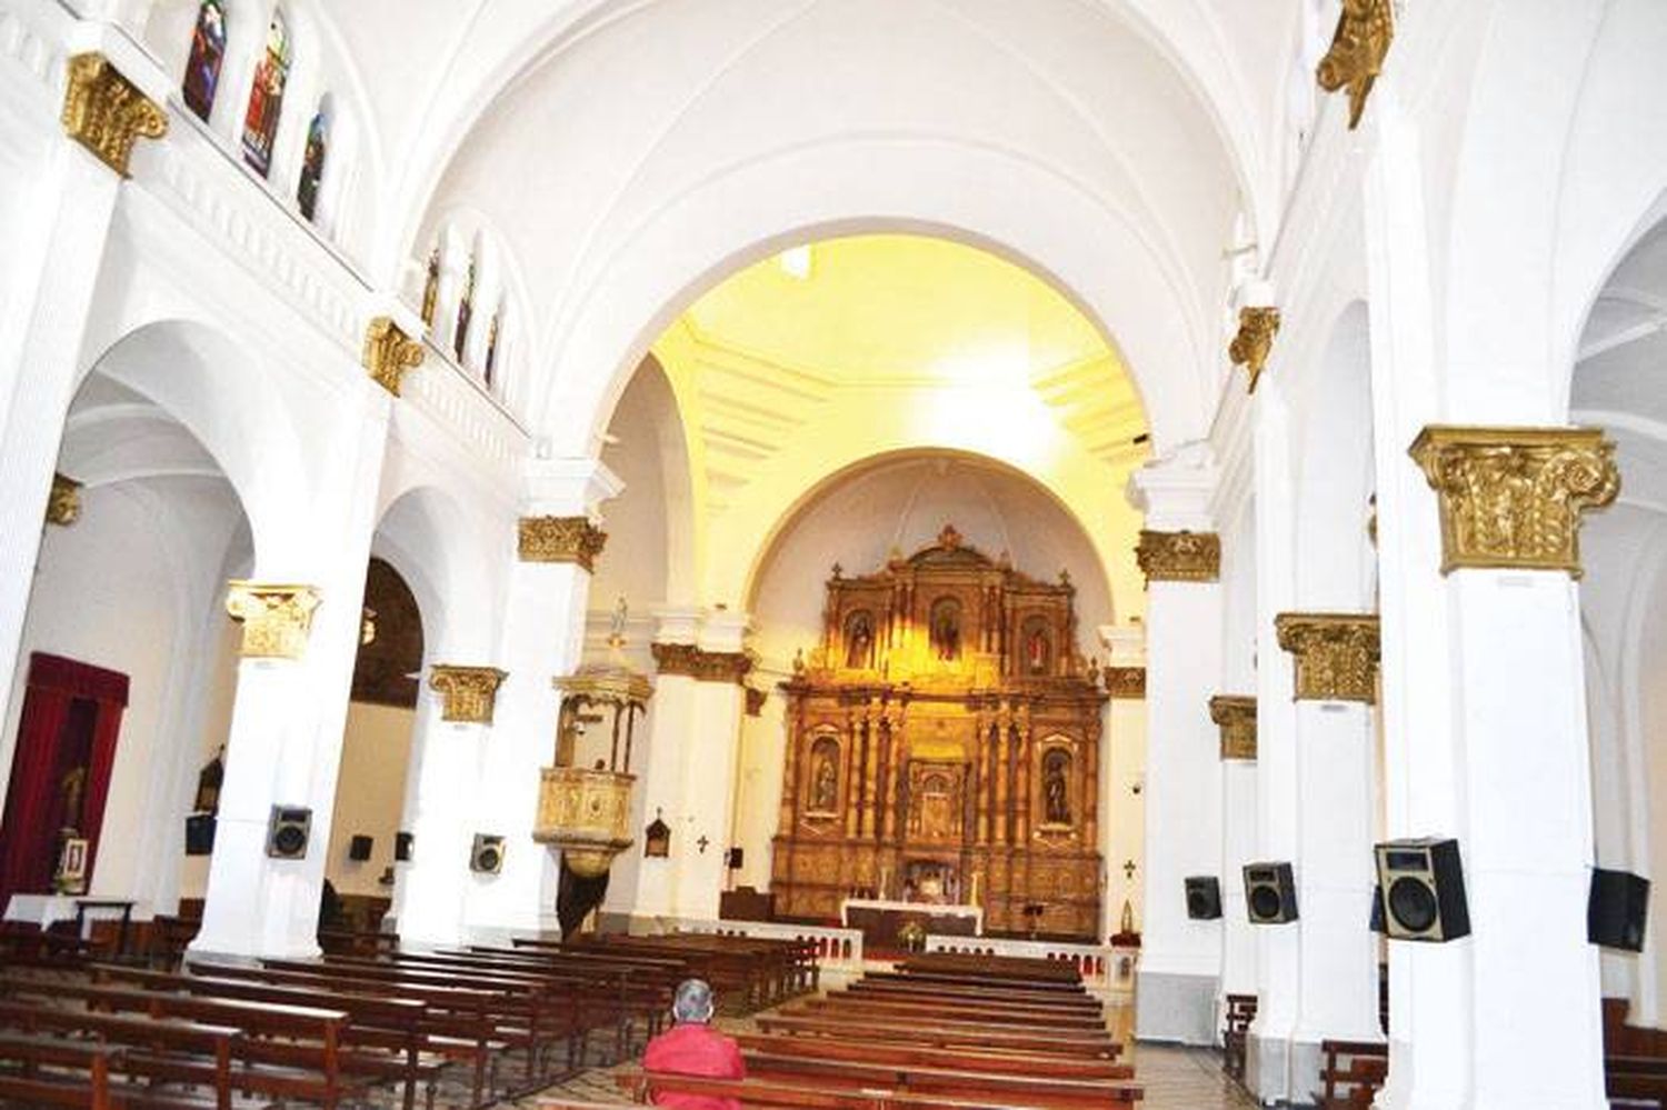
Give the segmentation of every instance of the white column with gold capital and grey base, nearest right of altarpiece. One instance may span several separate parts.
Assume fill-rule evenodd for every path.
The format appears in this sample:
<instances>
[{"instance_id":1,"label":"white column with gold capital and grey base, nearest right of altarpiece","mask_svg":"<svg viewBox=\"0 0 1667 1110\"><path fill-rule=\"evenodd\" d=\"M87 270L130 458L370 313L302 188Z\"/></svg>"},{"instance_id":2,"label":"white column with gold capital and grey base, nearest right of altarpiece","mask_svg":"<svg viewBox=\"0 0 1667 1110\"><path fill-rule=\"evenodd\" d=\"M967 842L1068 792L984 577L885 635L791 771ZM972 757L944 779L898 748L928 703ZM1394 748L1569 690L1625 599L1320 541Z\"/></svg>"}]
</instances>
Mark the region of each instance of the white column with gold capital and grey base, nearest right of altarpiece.
<instances>
[{"instance_id":1,"label":"white column with gold capital and grey base, nearest right of altarpiece","mask_svg":"<svg viewBox=\"0 0 1667 1110\"><path fill-rule=\"evenodd\" d=\"M1215 543L1207 515L1215 467L1187 452L1135 473L1147 528L1187 560L1177 533ZM1145 562L1145 558L1144 558ZM1209 572L1147 565L1145 932L1135 1035L1207 1045L1215 1038L1222 923L1187 917L1185 878L1222 867L1219 740L1209 698L1222 673L1219 548Z\"/></svg>"}]
</instances>

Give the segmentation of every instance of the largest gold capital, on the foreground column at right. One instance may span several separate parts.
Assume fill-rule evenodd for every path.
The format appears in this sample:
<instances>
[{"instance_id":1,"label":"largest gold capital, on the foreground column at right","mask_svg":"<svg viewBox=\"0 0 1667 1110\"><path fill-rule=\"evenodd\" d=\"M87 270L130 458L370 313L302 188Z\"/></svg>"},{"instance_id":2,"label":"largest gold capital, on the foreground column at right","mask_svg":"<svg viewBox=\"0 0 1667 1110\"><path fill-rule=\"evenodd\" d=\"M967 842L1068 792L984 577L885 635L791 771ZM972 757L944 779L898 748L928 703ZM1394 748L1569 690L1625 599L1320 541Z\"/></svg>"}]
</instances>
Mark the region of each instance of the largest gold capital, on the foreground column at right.
<instances>
[{"instance_id":1,"label":"largest gold capital, on the foreground column at right","mask_svg":"<svg viewBox=\"0 0 1667 1110\"><path fill-rule=\"evenodd\" d=\"M1442 573L1460 567L1580 577L1580 513L1620 493L1615 445L1599 428L1432 425L1412 458L1440 500Z\"/></svg>"}]
</instances>

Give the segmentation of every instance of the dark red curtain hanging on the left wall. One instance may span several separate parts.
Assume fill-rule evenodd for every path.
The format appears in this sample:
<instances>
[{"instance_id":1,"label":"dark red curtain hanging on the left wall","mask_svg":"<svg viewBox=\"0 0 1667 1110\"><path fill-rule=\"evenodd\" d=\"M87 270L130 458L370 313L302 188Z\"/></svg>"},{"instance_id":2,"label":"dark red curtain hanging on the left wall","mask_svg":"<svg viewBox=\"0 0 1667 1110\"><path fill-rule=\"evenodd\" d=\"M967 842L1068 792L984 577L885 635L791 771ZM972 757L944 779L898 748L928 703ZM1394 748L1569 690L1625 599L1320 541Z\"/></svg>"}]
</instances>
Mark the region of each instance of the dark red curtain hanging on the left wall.
<instances>
[{"instance_id":1,"label":"dark red curtain hanging on the left wall","mask_svg":"<svg viewBox=\"0 0 1667 1110\"><path fill-rule=\"evenodd\" d=\"M92 873L115 767L127 675L72 658L30 655L23 715L0 820L0 907L13 893L48 893L57 867L63 777L87 772L80 832Z\"/></svg>"}]
</instances>

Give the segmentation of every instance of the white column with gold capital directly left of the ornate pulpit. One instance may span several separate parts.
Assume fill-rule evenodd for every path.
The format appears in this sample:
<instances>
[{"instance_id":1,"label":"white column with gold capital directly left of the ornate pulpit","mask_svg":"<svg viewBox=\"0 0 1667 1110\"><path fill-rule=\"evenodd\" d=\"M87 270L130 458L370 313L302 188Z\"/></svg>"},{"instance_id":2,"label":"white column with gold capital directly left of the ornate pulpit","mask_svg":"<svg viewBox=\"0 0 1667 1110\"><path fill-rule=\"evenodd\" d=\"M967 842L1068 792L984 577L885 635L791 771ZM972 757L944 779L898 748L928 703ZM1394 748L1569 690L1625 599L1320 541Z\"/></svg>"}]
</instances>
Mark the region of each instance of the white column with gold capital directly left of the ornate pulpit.
<instances>
[{"instance_id":1,"label":"white column with gold capital directly left of the ornate pulpit","mask_svg":"<svg viewBox=\"0 0 1667 1110\"><path fill-rule=\"evenodd\" d=\"M528 475L522 517L523 522L593 522L597 507L622 488L620 480L592 458L540 462ZM532 828L538 810L538 772L555 760L560 697L552 680L572 673L583 653L590 570L577 552L523 548L523 555L508 577L498 645L498 665L508 678L498 687L472 807L473 827L467 830L470 842L475 833L503 837L502 872L468 872L463 880L465 925L478 937L557 928L557 860L533 842ZM550 562L557 558L562 562ZM468 845L457 865L467 872Z\"/></svg>"}]
</instances>

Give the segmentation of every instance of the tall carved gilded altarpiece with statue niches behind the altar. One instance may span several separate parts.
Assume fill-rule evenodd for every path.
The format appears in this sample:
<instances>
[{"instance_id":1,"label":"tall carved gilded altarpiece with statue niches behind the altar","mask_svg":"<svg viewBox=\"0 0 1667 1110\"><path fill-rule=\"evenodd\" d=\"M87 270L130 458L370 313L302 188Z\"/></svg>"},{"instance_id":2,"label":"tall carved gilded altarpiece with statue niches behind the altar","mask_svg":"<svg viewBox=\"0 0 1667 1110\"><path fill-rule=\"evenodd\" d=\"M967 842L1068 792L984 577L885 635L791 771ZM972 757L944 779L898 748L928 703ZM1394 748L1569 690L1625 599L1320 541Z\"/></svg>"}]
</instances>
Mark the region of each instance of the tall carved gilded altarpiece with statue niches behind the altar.
<instances>
[{"instance_id":1,"label":"tall carved gilded altarpiece with statue niches behind the altar","mask_svg":"<svg viewBox=\"0 0 1667 1110\"><path fill-rule=\"evenodd\" d=\"M777 913L910 898L982 905L987 932L1094 937L1107 695L1075 643L1069 577L954 528L875 573L835 568L822 642L782 683Z\"/></svg>"}]
</instances>

